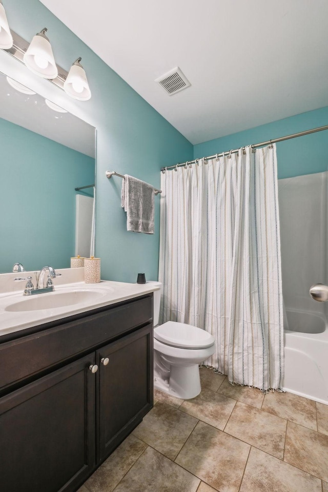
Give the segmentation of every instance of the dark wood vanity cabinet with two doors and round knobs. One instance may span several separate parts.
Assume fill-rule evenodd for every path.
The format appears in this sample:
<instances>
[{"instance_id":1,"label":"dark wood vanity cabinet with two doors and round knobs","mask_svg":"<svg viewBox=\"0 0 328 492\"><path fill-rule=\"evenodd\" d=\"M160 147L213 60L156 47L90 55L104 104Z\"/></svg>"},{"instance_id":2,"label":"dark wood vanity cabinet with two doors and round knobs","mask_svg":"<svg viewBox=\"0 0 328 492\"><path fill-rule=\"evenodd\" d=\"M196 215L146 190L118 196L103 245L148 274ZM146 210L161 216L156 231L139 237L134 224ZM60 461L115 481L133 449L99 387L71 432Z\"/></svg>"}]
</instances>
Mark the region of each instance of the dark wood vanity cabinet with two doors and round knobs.
<instances>
[{"instance_id":1,"label":"dark wood vanity cabinet with two doors and round knobs","mask_svg":"<svg viewBox=\"0 0 328 492\"><path fill-rule=\"evenodd\" d=\"M153 405L152 295L79 316L0 343L0 490L77 490ZM73 327L80 337L63 360ZM47 363L40 339L47 353L54 333L58 361ZM19 382L8 385L4 365L16 357L19 366L24 348L30 373L18 367Z\"/></svg>"}]
</instances>

